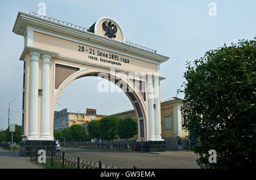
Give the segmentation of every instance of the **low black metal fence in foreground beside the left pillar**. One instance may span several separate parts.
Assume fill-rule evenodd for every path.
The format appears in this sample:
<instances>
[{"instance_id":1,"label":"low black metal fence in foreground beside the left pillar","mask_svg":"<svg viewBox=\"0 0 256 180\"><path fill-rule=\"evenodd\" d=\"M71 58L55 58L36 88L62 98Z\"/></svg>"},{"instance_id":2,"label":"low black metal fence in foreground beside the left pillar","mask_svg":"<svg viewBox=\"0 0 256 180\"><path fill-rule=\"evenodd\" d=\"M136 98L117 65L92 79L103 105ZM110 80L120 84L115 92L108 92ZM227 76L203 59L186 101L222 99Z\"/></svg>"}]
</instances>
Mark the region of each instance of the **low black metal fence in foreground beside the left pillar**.
<instances>
[{"instance_id":1,"label":"low black metal fence in foreground beside the left pillar","mask_svg":"<svg viewBox=\"0 0 256 180\"><path fill-rule=\"evenodd\" d=\"M30 160L38 162L38 151L40 149L33 148L31 150ZM102 162L84 161L80 157L71 158L65 156L65 152L46 151L46 168L53 169L115 169L114 166L105 165L102 167ZM120 167L118 167L119 169Z\"/></svg>"}]
</instances>

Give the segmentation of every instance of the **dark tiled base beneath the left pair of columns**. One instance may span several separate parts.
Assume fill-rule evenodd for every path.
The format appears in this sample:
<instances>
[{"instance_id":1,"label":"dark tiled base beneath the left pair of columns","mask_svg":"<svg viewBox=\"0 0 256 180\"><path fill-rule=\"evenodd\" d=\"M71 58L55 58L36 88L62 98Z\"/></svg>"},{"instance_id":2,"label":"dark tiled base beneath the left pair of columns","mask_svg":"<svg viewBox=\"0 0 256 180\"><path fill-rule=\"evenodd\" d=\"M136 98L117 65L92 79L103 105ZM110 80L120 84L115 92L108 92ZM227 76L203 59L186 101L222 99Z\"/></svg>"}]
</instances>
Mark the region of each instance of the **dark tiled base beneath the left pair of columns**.
<instances>
[{"instance_id":1,"label":"dark tiled base beneath the left pair of columns","mask_svg":"<svg viewBox=\"0 0 256 180\"><path fill-rule=\"evenodd\" d=\"M19 142L19 156L30 157L32 149L56 151L56 142L53 140L24 140Z\"/></svg>"}]
</instances>

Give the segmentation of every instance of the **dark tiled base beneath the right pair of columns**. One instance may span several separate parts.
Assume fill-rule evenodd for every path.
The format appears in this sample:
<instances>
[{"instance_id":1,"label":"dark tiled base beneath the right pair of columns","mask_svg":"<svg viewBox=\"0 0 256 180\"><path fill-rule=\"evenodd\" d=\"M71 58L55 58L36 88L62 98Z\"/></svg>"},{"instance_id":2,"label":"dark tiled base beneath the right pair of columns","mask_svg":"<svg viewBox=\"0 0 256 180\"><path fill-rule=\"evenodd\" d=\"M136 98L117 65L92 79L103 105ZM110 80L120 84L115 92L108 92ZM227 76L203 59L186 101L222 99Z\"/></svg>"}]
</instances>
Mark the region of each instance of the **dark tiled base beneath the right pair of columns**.
<instances>
[{"instance_id":1,"label":"dark tiled base beneath the right pair of columns","mask_svg":"<svg viewBox=\"0 0 256 180\"><path fill-rule=\"evenodd\" d=\"M154 140L148 142L137 142L135 144L135 151L144 152L165 152L166 142L164 140Z\"/></svg>"}]
</instances>

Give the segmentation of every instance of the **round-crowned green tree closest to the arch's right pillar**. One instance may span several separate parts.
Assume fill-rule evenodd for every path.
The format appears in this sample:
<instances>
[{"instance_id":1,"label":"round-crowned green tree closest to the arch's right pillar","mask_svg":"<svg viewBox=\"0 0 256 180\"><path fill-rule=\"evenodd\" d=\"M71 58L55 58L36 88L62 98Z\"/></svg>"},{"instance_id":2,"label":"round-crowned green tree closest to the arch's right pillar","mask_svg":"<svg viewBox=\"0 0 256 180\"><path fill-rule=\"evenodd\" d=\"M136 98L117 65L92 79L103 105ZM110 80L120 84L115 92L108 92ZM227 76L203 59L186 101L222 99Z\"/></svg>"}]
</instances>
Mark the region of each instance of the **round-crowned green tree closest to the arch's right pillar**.
<instances>
[{"instance_id":1,"label":"round-crowned green tree closest to the arch's right pillar","mask_svg":"<svg viewBox=\"0 0 256 180\"><path fill-rule=\"evenodd\" d=\"M128 139L138 134L137 120L133 118L120 119L118 122L117 134L119 138L126 139L129 148Z\"/></svg>"}]
</instances>

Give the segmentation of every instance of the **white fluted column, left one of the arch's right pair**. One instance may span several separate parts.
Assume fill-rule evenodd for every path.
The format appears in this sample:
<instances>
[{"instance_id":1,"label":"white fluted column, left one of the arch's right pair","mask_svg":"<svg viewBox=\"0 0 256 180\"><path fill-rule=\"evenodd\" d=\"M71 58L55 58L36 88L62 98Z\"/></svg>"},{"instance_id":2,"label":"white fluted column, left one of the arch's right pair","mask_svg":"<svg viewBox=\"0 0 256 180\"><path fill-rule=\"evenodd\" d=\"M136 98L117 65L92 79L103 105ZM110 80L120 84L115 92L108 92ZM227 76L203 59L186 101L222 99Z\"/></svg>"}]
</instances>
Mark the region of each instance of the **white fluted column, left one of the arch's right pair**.
<instances>
[{"instance_id":1,"label":"white fluted column, left one of the arch's right pair","mask_svg":"<svg viewBox=\"0 0 256 180\"><path fill-rule=\"evenodd\" d=\"M152 74L147 75L148 91L148 140L155 140L155 122L154 122L154 89L152 84Z\"/></svg>"}]
</instances>

